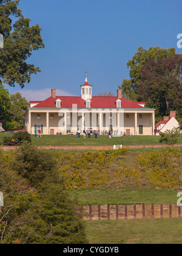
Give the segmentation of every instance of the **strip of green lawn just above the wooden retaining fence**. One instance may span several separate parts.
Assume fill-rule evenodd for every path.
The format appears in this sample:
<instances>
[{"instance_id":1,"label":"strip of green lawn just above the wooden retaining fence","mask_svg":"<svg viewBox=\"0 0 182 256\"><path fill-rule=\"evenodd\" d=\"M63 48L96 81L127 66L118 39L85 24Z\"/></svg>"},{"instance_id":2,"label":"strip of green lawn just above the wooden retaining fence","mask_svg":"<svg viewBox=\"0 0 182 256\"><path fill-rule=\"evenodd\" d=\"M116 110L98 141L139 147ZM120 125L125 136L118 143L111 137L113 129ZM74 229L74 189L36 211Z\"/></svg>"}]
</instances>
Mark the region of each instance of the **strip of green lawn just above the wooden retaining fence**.
<instances>
[{"instance_id":1,"label":"strip of green lawn just above the wooden retaining fence","mask_svg":"<svg viewBox=\"0 0 182 256\"><path fill-rule=\"evenodd\" d=\"M139 189L136 187L118 189L71 190L69 194L78 198L78 204L176 204L177 190Z\"/></svg>"}]
</instances>

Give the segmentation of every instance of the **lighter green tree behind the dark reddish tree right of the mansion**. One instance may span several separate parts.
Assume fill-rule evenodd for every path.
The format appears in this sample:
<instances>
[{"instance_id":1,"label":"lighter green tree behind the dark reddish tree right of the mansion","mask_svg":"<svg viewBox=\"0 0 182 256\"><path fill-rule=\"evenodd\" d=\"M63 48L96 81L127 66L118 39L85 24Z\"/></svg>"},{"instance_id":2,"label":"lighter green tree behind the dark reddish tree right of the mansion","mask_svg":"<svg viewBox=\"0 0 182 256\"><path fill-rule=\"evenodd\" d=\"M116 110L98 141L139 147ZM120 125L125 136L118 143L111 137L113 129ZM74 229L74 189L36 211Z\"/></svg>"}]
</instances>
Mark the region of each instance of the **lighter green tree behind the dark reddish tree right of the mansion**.
<instances>
[{"instance_id":1,"label":"lighter green tree behind the dark reddish tree right of the mansion","mask_svg":"<svg viewBox=\"0 0 182 256\"><path fill-rule=\"evenodd\" d=\"M175 55L175 48L163 49L160 47L150 47L148 50L139 47L132 60L127 62L127 67L130 68L130 79L124 79L121 86L123 95L129 100L138 100L140 95L137 91L138 83L141 77L141 69L151 59L158 60L158 58L167 58ZM143 99L142 101L145 101Z\"/></svg>"}]
</instances>

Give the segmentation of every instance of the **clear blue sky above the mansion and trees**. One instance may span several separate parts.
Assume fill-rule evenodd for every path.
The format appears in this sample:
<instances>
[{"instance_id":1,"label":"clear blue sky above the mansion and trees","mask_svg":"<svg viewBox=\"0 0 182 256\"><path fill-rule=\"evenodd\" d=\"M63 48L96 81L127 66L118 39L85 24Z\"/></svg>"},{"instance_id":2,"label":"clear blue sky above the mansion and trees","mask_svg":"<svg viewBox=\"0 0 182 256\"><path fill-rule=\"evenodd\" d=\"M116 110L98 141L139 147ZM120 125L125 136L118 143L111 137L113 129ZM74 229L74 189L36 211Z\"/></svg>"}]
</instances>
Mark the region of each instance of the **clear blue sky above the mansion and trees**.
<instances>
[{"instance_id":1,"label":"clear blue sky above the mansion and trees","mask_svg":"<svg viewBox=\"0 0 182 256\"><path fill-rule=\"evenodd\" d=\"M39 24L45 44L27 59L41 72L24 89L6 86L27 100L44 100L51 88L58 95L80 95L86 67L93 95L116 94L140 46L175 47L182 54L181 0L20 0L19 9L31 25Z\"/></svg>"}]
</instances>

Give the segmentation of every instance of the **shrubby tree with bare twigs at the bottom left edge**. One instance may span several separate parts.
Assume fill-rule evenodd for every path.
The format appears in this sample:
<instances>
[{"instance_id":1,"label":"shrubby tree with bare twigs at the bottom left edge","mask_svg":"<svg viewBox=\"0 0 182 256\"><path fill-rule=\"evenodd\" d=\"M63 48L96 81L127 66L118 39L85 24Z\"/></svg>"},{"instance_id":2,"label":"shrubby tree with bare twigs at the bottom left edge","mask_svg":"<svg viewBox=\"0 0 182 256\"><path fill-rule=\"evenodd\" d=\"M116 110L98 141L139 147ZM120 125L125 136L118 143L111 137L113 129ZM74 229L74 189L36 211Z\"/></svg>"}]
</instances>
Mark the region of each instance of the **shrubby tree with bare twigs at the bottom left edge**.
<instances>
[{"instance_id":1,"label":"shrubby tree with bare twigs at the bottom left edge","mask_svg":"<svg viewBox=\"0 0 182 256\"><path fill-rule=\"evenodd\" d=\"M4 195L4 206L0 211L0 244L25 243L38 197L36 190L15 170L15 154L0 150L0 191Z\"/></svg>"}]
</instances>

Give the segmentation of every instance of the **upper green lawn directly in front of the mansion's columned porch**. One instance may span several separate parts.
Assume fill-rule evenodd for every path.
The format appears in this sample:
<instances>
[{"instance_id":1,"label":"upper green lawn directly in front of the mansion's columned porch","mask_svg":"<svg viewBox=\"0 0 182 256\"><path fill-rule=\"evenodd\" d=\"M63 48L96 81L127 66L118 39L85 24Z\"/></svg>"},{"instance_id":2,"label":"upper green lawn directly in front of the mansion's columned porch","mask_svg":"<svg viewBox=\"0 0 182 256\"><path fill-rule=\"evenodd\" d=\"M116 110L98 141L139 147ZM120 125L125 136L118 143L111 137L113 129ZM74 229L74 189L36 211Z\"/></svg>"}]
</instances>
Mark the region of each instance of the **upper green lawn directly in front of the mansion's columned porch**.
<instances>
[{"instance_id":1,"label":"upper green lawn directly in front of the mansion's columned porch","mask_svg":"<svg viewBox=\"0 0 182 256\"><path fill-rule=\"evenodd\" d=\"M0 133L0 140L4 136L12 136L12 133ZM98 138L95 138L92 135L90 138L83 138L81 135L80 138L76 135L44 135L42 137L35 137L31 135L33 145L145 145L145 144L160 144L160 136L121 136L121 137L112 137L109 139L107 135L98 135ZM178 144L182 144L182 135L178 140Z\"/></svg>"}]
</instances>

